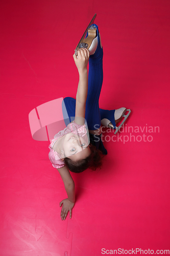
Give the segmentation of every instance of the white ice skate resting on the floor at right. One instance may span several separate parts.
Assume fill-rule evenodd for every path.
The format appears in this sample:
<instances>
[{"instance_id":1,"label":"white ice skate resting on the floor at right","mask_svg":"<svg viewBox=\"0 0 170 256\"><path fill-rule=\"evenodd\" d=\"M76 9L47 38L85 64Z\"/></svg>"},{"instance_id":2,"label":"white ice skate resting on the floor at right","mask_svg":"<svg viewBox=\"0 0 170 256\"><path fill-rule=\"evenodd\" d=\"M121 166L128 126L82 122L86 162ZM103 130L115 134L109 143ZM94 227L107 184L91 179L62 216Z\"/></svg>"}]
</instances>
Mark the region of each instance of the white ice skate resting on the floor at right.
<instances>
[{"instance_id":1,"label":"white ice skate resting on the floor at right","mask_svg":"<svg viewBox=\"0 0 170 256\"><path fill-rule=\"evenodd\" d=\"M128 111L128 114L126 115L127 111ZM125 123L130 113L131 113L131 110L130 109L127 110L126 108L120 108L115 110L115 113L114 113L115 123L119 123L123 120L119 126L114 127L113 124L110 122L110 120L107 118L102 119L101 123L105 127L111 127L111 129L115 129L114 134L116 134L119 131L120 127L122 127L122 125Z\"/></svg>"}]
</instances>

